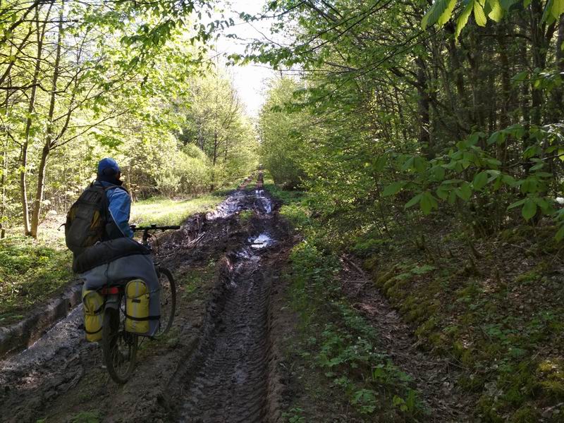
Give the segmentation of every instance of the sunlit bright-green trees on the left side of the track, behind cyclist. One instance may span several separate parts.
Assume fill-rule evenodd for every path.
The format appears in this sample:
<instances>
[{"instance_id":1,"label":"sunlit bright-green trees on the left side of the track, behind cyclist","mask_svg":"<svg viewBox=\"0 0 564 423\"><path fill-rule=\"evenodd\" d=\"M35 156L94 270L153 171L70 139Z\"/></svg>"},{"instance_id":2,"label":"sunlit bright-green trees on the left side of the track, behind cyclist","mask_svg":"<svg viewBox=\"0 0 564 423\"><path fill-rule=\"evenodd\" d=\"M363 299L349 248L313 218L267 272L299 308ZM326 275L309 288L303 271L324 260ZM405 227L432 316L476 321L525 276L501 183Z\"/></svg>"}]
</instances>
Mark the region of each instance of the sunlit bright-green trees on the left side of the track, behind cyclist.
<instances>
[{"instance_id":1,"label":"sunlit bright-green trees on the left side of the track, behind cyclist","mask_svg":"<svg viewBox=\"0 0 564 423\"><path fill-rule=\"evenodd\" d=\"M181 26L195 25L195 7L4 2L2 236L37 238L104 155L121 161L139 198L204 192L256 167L252 125L229 75L206 56L222 23L191 35Z\"/></svg>"}]
</instances>

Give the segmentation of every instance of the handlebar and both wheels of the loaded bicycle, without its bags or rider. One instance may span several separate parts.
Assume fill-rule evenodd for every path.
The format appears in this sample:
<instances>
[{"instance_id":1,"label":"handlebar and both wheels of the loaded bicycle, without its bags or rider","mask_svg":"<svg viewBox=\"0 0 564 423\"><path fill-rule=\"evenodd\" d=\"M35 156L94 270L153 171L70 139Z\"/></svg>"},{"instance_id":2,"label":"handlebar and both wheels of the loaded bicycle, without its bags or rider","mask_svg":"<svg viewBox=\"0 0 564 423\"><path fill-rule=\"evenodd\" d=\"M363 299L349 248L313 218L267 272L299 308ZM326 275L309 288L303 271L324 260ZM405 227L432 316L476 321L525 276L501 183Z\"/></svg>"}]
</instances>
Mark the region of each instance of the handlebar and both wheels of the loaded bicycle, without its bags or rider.
<instances>
[{"instance_id":1,"label":"handlebar and both wheels of the loaded bicycle, without its bags or rider","mask_svg":"<svg viewBox=\"0 0 564 423\"><path fill-rule=\"evenodd\" d=\"M180 226L135 226L131 225L134 232L143 232L142 244L149 250L149 238L156 231L180 229ZM161 338L171 329L174 312L176 311L176 285L171 271L154 262L155 271L159 277L161 318L159 331L151 338ZM109 286L104 286L100 293L104 295L104 321L102 322L102 355L106 369L118 384L125 384L135 367L139 336L125 331L125 284L129 280L116 281Z\"/></svg>"}]
</instances>

